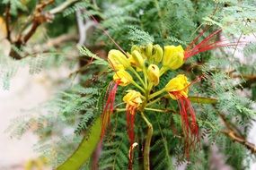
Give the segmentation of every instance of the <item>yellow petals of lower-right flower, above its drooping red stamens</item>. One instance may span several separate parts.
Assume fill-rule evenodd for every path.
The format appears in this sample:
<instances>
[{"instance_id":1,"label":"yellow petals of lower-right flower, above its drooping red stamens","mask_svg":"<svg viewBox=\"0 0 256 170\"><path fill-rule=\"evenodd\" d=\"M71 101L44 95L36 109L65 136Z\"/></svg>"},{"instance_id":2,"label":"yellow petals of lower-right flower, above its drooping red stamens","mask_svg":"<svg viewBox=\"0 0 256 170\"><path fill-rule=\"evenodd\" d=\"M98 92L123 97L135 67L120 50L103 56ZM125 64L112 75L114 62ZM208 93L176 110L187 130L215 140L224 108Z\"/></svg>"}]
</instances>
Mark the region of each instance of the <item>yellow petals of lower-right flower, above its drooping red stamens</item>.
<instances>
[{"instance_id":1,"label":"yellow petals of lower-right flower, above its drooping red stamens","mask_svg":"<svg viewBox=\"0 0 256 170\"><path fill-rule=\"evenodd\" d=\"M166 84L165 90L172 99L188 98L189 85L188 78L184 74L179 74Z\"/></svg>"}]
</instances>

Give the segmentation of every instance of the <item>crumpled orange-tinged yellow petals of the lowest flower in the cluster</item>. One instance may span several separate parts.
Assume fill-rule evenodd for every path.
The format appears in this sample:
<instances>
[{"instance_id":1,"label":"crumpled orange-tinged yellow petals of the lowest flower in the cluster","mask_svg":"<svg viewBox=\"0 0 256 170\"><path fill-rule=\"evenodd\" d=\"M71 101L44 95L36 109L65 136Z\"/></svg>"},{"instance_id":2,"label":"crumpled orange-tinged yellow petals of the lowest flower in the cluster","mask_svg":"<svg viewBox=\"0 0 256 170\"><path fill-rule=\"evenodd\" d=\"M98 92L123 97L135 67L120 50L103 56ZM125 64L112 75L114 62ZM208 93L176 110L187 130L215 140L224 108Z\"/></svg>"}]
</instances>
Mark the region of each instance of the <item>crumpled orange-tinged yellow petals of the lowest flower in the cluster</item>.
<instances>
[{"instance_id":1,"label":"crumpled orange-tinged yellow petals of the lowest flower in the cluster","mask_svg":"<svg viewBox=\"0 0 256 170\"><path fill-rule=\"evenodd\" d=\"M124 96L123 101L127 104L127 109L131 107L137 108L142 103L142 95L136 90L128 90L128 94Z\"/></svg>"}]
</instances>

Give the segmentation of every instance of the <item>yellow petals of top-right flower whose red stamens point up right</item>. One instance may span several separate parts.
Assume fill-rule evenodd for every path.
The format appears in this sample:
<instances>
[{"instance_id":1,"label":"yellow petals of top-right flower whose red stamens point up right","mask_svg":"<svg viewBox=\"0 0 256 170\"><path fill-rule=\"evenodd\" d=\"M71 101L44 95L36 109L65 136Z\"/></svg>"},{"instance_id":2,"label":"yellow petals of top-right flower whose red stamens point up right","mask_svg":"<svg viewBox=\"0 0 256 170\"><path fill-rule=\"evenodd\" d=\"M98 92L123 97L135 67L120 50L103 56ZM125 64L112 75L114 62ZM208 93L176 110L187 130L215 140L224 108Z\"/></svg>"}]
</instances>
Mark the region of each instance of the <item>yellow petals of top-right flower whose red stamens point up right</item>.
<instances>
[{"instance_id":1,"label":"yellow petals of top-right flower whose red stamens point up right","mask_svg":"<svg viewBox=\"0 0 256 170\"><path fill-rule=\"evenodd\" d=\"M184 50L181 46L164 46L163 66L176 70L184 64Z\"/></svg>"}]
</instances>

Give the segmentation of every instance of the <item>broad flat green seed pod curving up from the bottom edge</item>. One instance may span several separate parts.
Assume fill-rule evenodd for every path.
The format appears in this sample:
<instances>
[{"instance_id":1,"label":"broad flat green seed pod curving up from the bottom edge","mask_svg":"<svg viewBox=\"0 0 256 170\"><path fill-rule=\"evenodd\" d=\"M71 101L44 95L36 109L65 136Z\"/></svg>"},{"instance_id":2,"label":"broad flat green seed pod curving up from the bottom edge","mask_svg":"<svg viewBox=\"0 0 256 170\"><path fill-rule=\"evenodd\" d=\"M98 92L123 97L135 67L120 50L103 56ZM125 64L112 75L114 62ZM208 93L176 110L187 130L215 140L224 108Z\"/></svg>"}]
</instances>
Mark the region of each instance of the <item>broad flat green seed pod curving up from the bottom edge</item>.
<instances>
[{"instance_id":1,"label":"broad flat green seed pod curving up from the bottom edge","mask_svg":"<svg viewBox=\"0 0 256 170\"><path fill-rule=\"evenodd\" d=\"M94 149L100 140L102 132L102 121L99 116L91 128L91 135L81 141L75 152L57 170L78 170L84 165L85 161L91 157Z\"/></svg>"}]
</instances>

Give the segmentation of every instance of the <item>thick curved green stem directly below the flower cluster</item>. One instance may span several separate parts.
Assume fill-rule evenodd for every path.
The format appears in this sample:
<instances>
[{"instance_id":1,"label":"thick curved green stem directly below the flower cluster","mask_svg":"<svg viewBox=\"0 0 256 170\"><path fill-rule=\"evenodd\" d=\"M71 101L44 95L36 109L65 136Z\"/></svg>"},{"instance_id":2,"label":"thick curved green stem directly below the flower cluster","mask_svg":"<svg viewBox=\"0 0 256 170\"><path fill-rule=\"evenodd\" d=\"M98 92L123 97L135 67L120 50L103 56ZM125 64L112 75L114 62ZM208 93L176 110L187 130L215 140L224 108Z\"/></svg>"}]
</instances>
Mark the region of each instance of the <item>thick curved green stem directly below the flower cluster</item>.
<instances>
[{"instance_id":1,"label":"thick curved green stem directly below the flower cluster","mask_svg":"<svg viewBox=\"0 0 256 170\"><path fill-rule=\"evenodd\" d=\"M145 141L145 146L144 146L144 157L143 157L143 166L144 166L144 170L149 170L150 168L150 162L149 162L149 152L150 152L150 142L152 139L152 135L153 135L153 126L152 124L146 119L146 116L144 115L143 112L140 113L142 118L144 119L144 121L147 124L147 134L146 134L146 141Z\"/></svg>"}]
</instances>

